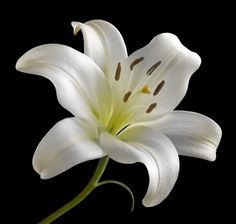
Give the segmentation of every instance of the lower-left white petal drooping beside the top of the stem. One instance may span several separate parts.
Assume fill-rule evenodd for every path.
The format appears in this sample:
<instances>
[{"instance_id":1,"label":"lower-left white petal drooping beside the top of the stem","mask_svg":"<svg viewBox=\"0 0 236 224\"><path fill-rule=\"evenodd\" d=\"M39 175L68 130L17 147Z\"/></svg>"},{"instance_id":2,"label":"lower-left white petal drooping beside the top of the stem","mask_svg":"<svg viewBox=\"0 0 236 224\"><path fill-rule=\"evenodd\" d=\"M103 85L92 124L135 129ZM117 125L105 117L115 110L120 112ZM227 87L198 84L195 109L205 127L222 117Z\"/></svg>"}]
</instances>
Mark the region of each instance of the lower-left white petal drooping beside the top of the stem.
<instances>
[{"instance_id":1,"label":"lower-left white petal drooping beside the top of the stem","mask_svg":"<svg viewBox=\"0 0 236 224\"><path fill-rule=\"evenodd\" d=\"M97 129L78 118L58 122L39 143L33 167L42 179L54 177L84 161L101 158Z\"/></svg>"}]
</instances>

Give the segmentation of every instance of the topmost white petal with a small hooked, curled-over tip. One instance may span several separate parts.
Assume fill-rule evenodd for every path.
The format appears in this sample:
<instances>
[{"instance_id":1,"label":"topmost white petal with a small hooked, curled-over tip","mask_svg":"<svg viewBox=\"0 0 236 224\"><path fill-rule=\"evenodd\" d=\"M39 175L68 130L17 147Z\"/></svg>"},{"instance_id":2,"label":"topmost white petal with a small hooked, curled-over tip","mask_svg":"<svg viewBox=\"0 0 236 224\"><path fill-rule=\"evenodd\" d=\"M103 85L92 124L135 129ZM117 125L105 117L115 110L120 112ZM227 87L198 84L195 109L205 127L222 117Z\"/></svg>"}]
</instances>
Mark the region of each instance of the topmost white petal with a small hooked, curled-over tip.
<instances>
[{"instance_id":1,"label":"topmost white petal with a small hooked, curled-over tip","mask_svg":"<svg viewBox=\"0 0 236 224\"><path fill-rule=\"evenodd\" d=\"M84 37L84 52L108 76L114 75L117 64L127 57L126 46L120 32L103 20L86 23L72 22L74 34L80 29Z\"/></svg>"}]
</instances>

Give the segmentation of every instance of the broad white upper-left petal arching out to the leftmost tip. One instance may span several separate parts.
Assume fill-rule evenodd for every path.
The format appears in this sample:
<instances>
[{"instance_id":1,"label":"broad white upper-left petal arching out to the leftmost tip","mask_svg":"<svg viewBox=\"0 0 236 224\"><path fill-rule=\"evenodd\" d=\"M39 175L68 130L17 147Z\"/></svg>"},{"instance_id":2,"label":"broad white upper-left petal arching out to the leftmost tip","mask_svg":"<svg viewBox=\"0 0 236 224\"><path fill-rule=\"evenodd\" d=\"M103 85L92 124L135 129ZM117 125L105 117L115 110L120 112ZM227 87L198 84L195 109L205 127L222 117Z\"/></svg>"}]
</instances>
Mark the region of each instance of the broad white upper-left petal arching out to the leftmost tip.
<instances>
[{"instance_id":1,"label":"broad white upper-left petal arching out to the leftmost tip","mask_svg":"<svg viewBox=\"0 0 236 224\"><path fill-rule=\"evenodd\" d=\"M50 79L59 102L73 115L93 122L95 117L109 119L112 96L106 77L90 58L73 48L59 44L35 47L17 61L16 69Z\"/></svg>"}]
</instances>

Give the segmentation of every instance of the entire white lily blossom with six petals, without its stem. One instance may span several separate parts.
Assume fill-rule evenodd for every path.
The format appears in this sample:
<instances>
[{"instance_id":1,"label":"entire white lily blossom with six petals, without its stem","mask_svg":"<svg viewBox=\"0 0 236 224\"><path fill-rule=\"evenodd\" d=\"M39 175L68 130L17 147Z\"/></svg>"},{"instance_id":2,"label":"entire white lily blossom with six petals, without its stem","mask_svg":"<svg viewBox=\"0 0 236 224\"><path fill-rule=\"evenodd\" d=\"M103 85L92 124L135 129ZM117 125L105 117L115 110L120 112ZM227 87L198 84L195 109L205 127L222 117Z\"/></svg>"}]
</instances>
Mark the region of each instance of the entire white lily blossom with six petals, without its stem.
<instances>
[{"instance_id":1,"label":"entire white lily blossom with six petals, without its stem","mask_svg":"<svg viewBox=\"0 0 236 224\"><path fill-rule=\"evenodd\" d=\"M47 44L25 53L17 70L53 82L60 104L75 117L58 122L39 143L33 167L42 179L108 155L143 163L149 186L143 204L159 204L173 188L180 155L213 161L220 127L193 112L173 111L186 94L200 57L170 33L157 35L127 56L110 23L73 22L82 30L84 53Z\"/></svg>"}]
</instances>

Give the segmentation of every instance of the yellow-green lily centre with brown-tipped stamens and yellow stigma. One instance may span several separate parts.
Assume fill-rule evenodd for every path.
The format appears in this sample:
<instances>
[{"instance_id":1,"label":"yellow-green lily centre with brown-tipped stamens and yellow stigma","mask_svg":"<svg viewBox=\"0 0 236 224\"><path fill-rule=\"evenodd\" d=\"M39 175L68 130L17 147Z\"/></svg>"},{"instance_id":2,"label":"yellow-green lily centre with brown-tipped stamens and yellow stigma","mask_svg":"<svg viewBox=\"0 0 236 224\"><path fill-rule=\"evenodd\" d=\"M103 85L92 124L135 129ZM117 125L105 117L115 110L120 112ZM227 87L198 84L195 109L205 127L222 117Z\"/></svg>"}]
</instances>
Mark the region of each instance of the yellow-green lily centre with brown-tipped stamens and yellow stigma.
<instances>
[{"instance_id":1,"label":"yellow-green lily centre with brown-tipped stamens and yellow stigma","mask_svg":"<svg viewBox=\"0 0 236 224\"><path fill-rule=\"evenodd\" d=\"M143 61L144 57L135 59L129 65L130 72L134 71L135 67L141 64ZM152 76L152 74L157 70L157 68L160 65L161 61L158 61L146 70L146 72L144 73L145 77L142 80L139 80L140 81L139 85L142 86L141 88L136 86L135 88L130 89L124 94L121 93L121 98L115 100L116 102L114 102L113 114L107 125L107 130L111 134L118 135L126 127L134 123L134 119L132 118L134 116L137 116L137 114L145 113L146 116L148 116L149 114L153 113L154 110L157 109L158 103L156 96L160 93L160 91L164 87L165 80L158 82L156 87L151 88L150 86L153 86L153 81L150 81L151 80L150 76ZM119 62L117 64L114 76L115 83L121 82L123 75L124 73L122 73L122 64L121 62ZM150 84L142 85L140 83L150 83ZM143 97L144 95L147 95L148 97L150 96L149 99ZM142 97L143 100L140 100L140 97Z\"/></svg>"}]
</instances>

